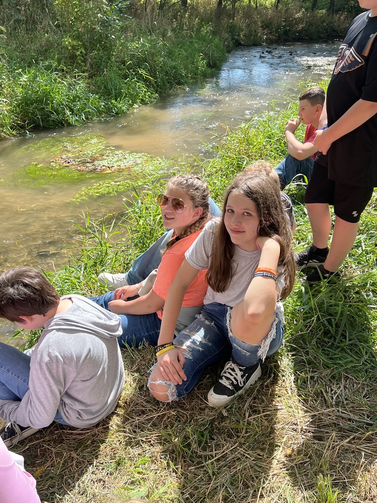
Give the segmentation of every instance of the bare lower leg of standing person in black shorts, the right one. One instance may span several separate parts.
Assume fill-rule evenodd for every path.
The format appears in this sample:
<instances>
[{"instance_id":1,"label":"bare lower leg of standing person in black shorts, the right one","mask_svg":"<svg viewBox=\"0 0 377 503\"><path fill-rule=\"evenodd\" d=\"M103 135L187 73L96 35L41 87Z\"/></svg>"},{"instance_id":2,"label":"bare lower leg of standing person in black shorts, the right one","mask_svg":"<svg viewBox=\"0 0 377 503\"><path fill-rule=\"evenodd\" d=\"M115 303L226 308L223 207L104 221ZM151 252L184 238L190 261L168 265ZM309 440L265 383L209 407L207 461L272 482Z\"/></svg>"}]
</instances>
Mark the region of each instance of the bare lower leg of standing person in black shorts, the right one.
<instances>
[{"instance_id":1,"label":"bare lower leg of standing person in black shorts, the right one","mask_svg":"<svg viewBox=\"0 0 377 503\"><path fill-rule=\"evenodd\" d=\"M328 271L336 271L347 257L357 235L358 222L351 223L335 218L329 255L323 264Z\"/></svg>"}]
</instances>

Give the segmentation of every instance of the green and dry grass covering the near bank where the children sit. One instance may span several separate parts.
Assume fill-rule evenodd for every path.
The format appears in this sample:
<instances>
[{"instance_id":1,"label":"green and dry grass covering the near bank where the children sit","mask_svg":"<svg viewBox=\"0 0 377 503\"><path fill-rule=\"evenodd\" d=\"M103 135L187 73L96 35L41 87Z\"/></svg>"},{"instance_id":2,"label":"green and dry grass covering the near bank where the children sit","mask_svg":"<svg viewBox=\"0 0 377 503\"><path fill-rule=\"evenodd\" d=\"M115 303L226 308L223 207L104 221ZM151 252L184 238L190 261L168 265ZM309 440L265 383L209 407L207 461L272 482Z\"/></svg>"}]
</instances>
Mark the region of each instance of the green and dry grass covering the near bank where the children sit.
<instances>
[{"instance_id":1,"label":"green and dry grass covering the near bank where the children sit","mask_svg":"<svg viewBox=\"0 0 377 503\"><path fill-rule=\"evenodd\" d=\"M271 104L258 119L220 140L213 159L197 160L212 196L262 157L285 153L287 117ZM103 270L125 271L162 232L156 195L163 181L141 181L124 211L99 222L86 216L65 268L46 272L61 295L104 292ZM295 247L311 241L303 184L286 188L298 228ZM314 287L298 273L285 301L281 349L263 364L244 397L225 408L206 402L218 377L211 368L196 389L161 405L147 390L153 348L122 351L126 384L117 409L97 427L53 425L16 447L37 477L42 501L109 503L370 503L377 498L377 192L361 216L341 278ZM38 336L34 335L35 342ZM72 442L74 440L74 442Z\"/></svg>"}]
</instances>

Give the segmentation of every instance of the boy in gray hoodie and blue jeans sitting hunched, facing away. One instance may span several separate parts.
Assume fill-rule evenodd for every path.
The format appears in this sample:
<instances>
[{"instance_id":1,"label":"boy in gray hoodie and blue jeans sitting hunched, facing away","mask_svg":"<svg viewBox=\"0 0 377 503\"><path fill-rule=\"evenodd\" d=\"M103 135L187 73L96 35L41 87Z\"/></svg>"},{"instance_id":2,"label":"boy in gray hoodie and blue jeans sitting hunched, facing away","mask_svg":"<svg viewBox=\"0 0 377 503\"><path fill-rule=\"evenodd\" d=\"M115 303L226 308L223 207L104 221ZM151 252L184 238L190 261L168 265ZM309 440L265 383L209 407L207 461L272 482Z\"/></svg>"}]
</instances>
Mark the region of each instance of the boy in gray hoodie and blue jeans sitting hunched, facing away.
<instances>
[{"instance_id":1,"label":"boy in gray hoodie and blue jeans sitting hunched, facing away","mask_svg":"<svg viewBox=\"0 0 377 503\"><path fill-rule=\"evenodd\" d=\"M44 327L25 353L0 342L1 433L7 447L53 421L89 428L116 407L124 384L118 315L79 295L59 297L29 267L0 275L0 317Z\"/></svg>"}]
</instances>

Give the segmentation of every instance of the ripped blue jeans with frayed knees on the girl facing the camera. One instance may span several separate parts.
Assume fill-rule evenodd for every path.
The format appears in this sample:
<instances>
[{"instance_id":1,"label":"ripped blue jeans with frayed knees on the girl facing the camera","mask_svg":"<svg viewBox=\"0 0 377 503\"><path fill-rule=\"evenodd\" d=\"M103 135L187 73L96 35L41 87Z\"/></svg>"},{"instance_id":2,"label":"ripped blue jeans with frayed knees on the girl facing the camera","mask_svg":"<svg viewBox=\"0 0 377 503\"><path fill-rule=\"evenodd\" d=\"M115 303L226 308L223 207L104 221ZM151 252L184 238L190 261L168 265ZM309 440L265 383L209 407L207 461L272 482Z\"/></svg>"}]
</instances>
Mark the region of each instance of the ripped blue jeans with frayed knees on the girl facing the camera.
<instances>
[{"instance_id":1,"label":"ripped blue jeans with frayed knees on the girl facing the camera","mask_svg":"<svg viewBox=\"0 0 377 503\"><path fill-rule=\"evenodd\" d=\"M237 363L248 367L259 360L264 361L266 356L272 355L280 348L284 336L281 303L277 305L271 331L260 344L255 345L240 341L233 336L229 326L231 310L231 307L218 302L205 305L196 320L174 339L174 346L184 353L183 370L187 380L177 385L171 382L158 382L169 386L170 389L167 391L169 401L190 393L203 371L212 363L225 358L229 361L232 355ZM148 386L152 383L149 378Z\"/></svg>"}]
</instances>

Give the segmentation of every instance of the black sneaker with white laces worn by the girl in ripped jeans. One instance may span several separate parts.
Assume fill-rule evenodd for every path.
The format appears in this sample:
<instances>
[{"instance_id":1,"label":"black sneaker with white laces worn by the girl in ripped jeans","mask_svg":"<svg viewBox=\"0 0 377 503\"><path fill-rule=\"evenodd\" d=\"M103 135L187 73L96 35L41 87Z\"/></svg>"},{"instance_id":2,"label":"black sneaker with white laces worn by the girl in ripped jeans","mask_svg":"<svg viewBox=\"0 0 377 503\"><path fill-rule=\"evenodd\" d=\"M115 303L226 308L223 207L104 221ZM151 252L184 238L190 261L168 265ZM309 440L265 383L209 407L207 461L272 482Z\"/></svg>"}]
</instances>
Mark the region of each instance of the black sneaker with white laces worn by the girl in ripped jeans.
<instances>
[{"instance_id":1,"label":"black sneaker with white laces worn by the girl in ripped jeans","mask_svg":"<svg viewBox=\"0 0 377 503\"><path fill-rule=\"evenodd\" d=\"M208 392L208 403L213 407L226 405L236 396L243 395L259 379L261 373L259 362L251 367L244 367L232 357L225 365L219 382Z\"/></svg>"}]
</instances>

